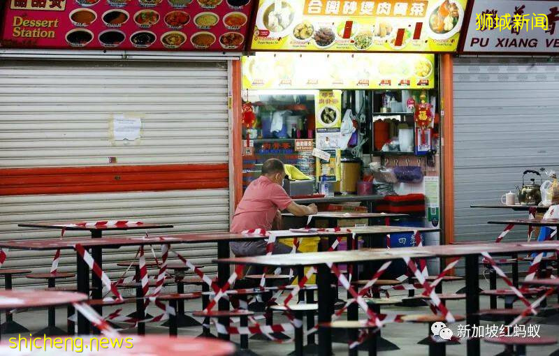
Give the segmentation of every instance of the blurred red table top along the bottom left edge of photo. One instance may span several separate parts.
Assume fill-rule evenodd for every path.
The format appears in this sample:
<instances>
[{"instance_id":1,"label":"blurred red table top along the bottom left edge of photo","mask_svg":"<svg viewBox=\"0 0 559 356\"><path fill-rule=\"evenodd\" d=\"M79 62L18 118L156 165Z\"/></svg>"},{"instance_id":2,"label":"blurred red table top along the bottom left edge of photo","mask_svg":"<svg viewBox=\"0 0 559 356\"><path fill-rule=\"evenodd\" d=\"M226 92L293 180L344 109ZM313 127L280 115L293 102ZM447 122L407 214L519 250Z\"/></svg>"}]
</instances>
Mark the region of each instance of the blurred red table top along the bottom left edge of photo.
<instances>
[{"instance_id":1,"label":"blurred red table top along the bottom left edge of photo","mask_svg":"<svg viewBox=\"0 0 559 356\"><path fill-rule=\"evenodd\" d=\"M77 337L77 336L59 336L62 341L67 338ZM120 336L123 340L122 348L111 348L110 342L108 348L101 348L97 350L96 345L101 343L102 335L96 336L99 341L89 340L89 338L95 336L81 336L83 338L83 351L84 353L78 353L76 350L80 350L80 342L75 343L75 348L68 347L65 351L64 348L56 349L49 348L50 343L47 342L47 350L41 348L41 350L28 350L24 348L24 343L22 342L22 351L17 350L13 347L13 343L8 341L3 341L0 343L0 355L3 356L34 356L41 355L45 356L66 356L66 355L103 355L103 356L122 356L122 355L144 355L144 356L168 356L168 355L196 355L196 356L227 356L232 355L235 352L235 346L233 343L228 343L219 339L205 339L205 338L194 338L188 336L179 336L170 339L166 335L122 335ZM55 336L52 336L55 339ZM40 341L36 341L38 346ZM64 341L66 344L66 341ZM104 343L103 343L104 344ZM126 348L133 345L131 348ZM69 343L68 343L69 345ZM89 350L90 345L93 345L93 350ZM36 346L34 346L34 349Z\"/></svg>"}]
</instances>

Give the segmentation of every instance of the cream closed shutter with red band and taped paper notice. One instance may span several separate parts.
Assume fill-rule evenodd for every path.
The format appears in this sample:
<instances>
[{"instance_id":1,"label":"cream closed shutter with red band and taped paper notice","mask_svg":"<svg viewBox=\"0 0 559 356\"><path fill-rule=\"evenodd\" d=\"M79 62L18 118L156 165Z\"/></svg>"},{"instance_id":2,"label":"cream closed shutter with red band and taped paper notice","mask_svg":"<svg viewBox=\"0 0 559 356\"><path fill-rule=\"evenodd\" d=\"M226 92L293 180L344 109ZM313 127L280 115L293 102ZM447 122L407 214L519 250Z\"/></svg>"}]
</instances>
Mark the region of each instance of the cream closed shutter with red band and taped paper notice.
<instances>
[{"instance_id":1,"label":"cream closed shutter with red band and taped paper notice","mask_svg":"<svg viewBox=\"0 0 559 356\"><path fill-rule=\"evenodd\" d=\"M110 157L116 158L116 165L140 167L224 165L229 151L227 93L225 61L0 61L0 168L103 168L110 166ZM140 140L112 140L111 123L118 115L141 119ZM166 184L173 186L172 179ZM0 239L59 237L58 230L17 227L31 221L128 218L175 225L168 231L152 230L150 235L228 229L225 187L100 191L106 193L1 196ZM215 271L210 265L216 255L214 244L180 246L177 251ZM103 269L111 277L120 276L125 268L116 263L131 260L135 252L106 251ZM53 254L10 251L4 266L47 272ZM59 271L75 271L73 253L63 254ZM36 281L15 281L27 283Z\"/></svg>"}]
</instances>

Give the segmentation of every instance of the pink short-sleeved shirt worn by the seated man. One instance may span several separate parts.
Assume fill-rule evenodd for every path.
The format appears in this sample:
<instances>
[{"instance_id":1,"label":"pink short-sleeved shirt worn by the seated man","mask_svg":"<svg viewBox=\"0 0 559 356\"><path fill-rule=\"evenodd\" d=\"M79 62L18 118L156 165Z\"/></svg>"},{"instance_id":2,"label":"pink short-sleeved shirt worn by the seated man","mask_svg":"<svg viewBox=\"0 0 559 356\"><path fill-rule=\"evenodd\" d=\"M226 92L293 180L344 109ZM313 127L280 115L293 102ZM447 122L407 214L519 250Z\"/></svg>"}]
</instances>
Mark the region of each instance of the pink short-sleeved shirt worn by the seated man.
<instances>
[{"instance_id":1,"label":"pink short-sleeved shirt worn by the seated man","mask_svg":"<svg viewBox=\"0 0 559 356\"><path fill-rule=\"evenodd\" d=\"M286 209L292 201L282 186L260 176L249 184L245 195L242 195L233 215L231 232L257 228L272 230L277 210Z\"/></svg>"}]
</instances>

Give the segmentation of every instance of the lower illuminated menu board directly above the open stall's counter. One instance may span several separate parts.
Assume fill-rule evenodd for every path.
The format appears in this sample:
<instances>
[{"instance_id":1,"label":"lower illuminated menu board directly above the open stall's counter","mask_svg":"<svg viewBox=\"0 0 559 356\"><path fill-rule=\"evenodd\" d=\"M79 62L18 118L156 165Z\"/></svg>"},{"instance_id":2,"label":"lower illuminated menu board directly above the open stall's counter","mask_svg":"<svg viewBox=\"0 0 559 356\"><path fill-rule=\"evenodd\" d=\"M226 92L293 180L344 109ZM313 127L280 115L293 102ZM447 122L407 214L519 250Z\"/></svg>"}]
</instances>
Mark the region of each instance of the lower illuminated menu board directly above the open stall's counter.
<instances>
[{"instance_id":1,"label":"lower illuminated menu board directly above the open stall's counter","mask_svg":"<svg viewBox=\"0 0 559 356\"><path fill-rule=\"evenodd\" d=\"M431 89L435 54L259 52L242 57L245 89Z\"/></svg>"}]
</instances>

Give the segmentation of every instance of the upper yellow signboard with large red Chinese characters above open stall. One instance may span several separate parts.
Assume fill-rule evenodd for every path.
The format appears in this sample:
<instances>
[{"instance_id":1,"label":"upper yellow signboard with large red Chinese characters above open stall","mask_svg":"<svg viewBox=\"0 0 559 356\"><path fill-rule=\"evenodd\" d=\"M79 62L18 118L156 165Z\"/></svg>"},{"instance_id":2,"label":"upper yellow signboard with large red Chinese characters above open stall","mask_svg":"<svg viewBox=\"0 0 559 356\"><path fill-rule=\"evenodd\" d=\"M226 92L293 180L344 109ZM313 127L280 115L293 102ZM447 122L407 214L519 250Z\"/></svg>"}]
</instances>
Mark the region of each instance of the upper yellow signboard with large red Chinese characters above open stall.
<instances>
[{"instance_id":1,"label":"upper yellow signboard with large red Chinese characters above open stall","mask_svg":"<svg viewBox=\"0 0 559 356\"><path fill-rule=\"evenodd\" d=\"M456 52L467 0L260 0L252 50Z\"/></svg>"}]
</instances>

